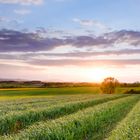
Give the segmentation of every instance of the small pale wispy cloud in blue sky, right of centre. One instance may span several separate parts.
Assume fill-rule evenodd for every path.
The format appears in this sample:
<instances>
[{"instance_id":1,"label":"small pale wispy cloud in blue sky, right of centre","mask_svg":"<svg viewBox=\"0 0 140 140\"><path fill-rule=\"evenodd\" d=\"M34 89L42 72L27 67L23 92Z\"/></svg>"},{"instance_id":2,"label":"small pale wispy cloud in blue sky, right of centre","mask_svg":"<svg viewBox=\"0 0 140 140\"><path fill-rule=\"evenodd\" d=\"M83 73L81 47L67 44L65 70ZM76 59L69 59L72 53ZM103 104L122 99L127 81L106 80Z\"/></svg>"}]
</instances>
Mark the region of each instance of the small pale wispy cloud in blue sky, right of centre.
<instances>
[{"instance_id":1,"label":"small pale wispy cloud in blue sky, right of centre","mask_svg":"<svg viewBox=\"0 0 140 140\"><path fill-rule=\"evenodd\" d=\"M94 26L96 28L103 29L103 30L109 29L107 26L105 26L104 24L96 20L74 18L73 21L79 23L81 26L89 26L89 27Z\"/></svg>"}]
</instances>

